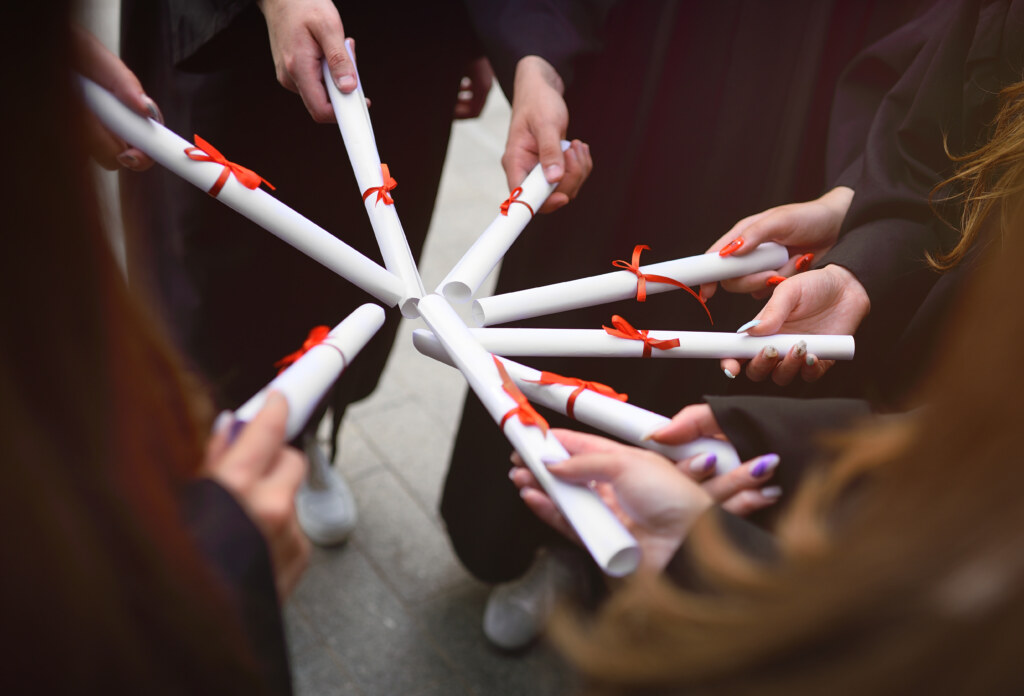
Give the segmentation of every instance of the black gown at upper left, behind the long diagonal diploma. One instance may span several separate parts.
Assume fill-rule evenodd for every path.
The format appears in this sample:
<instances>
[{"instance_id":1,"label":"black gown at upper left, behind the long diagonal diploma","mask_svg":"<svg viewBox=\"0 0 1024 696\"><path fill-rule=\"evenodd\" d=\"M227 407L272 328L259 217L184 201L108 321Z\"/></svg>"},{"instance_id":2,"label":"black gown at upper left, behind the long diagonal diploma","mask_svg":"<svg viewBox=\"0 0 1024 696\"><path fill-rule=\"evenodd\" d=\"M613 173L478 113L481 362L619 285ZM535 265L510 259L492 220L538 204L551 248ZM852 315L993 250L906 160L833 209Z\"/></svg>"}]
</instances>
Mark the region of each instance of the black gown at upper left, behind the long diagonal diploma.
<instances>
[{"instance_id":1,"label":"black gown at upper left, behind the long diagonal diploma","mask_svg":"<svg viewBox=\"0 0 1024 696\"><path fill-rule=\"evenodd\" d=\"M124 59L161 105L168 127L184 137L199 133L273 182L273 195L379 261L337 126L313 123L299 96L276 83L255 4L210 5L208 13L201 11L206 5L186 5L123 3ZM213 31L236 9L230 24ZM358 41L381 158L398 181L395 205L419 255L459 80L475 48L472 30L456 0L410 6L387 20L373 5L343 9L346 32ZM207 43L175 64L182 36ZM221 408L238 406L266 384L273 362L300 346L312 327L334 325L372 300L160 167L124 174L121 187L132 286L158 301ZM398 318L389 312L357 369L340 380L332 401L337 415L376 386Z\"/></svg>"}]
</instances>

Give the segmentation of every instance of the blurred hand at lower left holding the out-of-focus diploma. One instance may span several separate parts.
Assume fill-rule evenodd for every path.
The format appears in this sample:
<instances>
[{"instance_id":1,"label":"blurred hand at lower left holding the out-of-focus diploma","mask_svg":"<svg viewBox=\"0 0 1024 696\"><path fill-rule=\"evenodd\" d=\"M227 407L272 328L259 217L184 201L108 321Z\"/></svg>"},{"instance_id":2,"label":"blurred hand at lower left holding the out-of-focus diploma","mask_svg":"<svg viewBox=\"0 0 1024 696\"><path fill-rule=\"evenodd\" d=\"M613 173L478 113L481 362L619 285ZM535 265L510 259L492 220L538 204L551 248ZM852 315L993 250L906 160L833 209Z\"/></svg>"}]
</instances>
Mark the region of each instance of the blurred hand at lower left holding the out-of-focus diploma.
<instances>
[{"instance_id":1,"label":"blurred hand at lower left holding the out-of-focus diploma","mask_svg":"<svg viewBox=\"0 0 1024 696\"><path fill-rule=\"evenodd\" d=\"M285 444L288 401L271 392L263 408L228 442L230 428L210 441L206 473L230 491L263 533L281 597L287 597L309 562L309 541L295 516L295 493L305 458Z\"/></svg>"}]
</instances>

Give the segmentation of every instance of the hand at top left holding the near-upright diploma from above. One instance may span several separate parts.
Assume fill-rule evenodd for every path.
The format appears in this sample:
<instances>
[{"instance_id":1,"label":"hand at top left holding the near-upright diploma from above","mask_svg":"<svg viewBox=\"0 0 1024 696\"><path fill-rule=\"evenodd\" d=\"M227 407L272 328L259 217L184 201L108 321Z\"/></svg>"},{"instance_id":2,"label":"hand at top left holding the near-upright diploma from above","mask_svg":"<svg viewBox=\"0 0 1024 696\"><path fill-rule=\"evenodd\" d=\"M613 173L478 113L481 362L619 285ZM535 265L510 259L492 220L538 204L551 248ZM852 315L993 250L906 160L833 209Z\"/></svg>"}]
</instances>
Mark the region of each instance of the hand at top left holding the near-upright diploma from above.
<instances>
[{"instance_id":1,"label":"hand at top left holding the near-upright diploma from above","mask_svg":"<svg viewBox=\"0 0 1024 696\"><path fill-rule=\"evenodd\" d=\"M345 48L345 28L331 0L257 0L270 35L270 53L278 82L298 92L317 123L335 120L324 86L321 60L326 58L338 89L355 89L355 66ZM352 42L352 55L355 43Z\"/></svg>"}]
</instances>

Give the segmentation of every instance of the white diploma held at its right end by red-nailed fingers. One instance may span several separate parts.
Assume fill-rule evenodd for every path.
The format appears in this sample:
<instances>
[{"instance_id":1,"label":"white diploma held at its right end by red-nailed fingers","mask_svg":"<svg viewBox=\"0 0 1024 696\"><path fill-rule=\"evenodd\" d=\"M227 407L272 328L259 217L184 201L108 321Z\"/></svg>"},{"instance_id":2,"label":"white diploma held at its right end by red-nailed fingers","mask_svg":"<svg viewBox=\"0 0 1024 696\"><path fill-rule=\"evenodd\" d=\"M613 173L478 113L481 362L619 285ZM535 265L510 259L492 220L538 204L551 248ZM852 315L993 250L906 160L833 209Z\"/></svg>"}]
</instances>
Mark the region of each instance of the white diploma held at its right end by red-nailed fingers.
<instances>
[{"instance_id":1,"label":"white diploma held at its right end by red-nailed fingers","mask_svg":"<svg viewBox=\"0 0 1024 696\"><path fill-rule=\"evenodd\" d=\"M785 247L766 242L743 256L719 256L717 252L700 254L640 266L640 272L665 275L687 286L698 286L701 282L727 280L748 273L781 268L788 259L790 253ZM667 293L670 290L679 288L668 282L647 281L648 295ZM628 270L614 270L587 278L480 298L473 303L473 320L480 327L493 327L568 309L628 300L636 297L636 274Z\"/></svg>"}]
</instances>

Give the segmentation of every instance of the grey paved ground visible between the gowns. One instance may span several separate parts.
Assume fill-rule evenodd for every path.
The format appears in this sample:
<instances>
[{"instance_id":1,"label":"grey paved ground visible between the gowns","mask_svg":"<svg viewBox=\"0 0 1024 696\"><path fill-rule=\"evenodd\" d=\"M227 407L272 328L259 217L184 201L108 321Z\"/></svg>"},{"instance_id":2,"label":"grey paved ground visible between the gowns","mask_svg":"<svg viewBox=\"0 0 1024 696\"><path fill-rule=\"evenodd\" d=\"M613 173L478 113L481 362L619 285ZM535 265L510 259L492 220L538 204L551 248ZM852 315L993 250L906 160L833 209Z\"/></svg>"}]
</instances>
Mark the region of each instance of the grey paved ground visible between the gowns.
<instances>
[{"instance_id":1,"label":"grey paved ground visible between the gowns","mask_svg":"<svg viewBox=\"0 0 1024 696\"><path fill-rule=\"evenodd\" d=\"M86 0L81 10L112 47L118 8L118 0ZM499 164L507 128L508 103L497 90L480 119L454 128L420 264L428 289L507 194ZM101 184L116 223L113 180L102 176ZM342 427L337 466L355 491L359 526L345 547L314 553L286 607L297 691L569 693L569 676L546 647L505 655L484 643L487 589L460 567L436 512L466 386L454 369L416 352L411 332L418 325L403 323L380 386L349 408Z\"/></svg>"}]
</instances>

